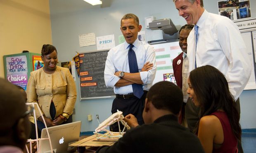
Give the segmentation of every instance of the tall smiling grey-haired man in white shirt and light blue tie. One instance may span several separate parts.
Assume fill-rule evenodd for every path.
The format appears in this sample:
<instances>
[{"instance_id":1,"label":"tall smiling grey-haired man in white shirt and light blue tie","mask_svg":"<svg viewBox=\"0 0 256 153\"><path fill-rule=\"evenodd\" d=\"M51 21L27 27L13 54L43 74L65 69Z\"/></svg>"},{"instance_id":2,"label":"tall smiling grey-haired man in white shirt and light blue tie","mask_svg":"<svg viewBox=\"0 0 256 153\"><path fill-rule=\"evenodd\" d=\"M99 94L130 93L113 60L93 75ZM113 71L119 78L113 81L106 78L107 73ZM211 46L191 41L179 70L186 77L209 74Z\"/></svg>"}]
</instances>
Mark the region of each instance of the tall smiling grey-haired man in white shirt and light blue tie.
<instances>
[{"instance_id":1,"label":"tall smiling grey-haired man in white shirt and light blue tie","mask_svg":"<svg viewBox=\"0 0 256 153\"><path fill-rule=\"evenodd\" d=\"M226 77L235 100L244 90L251 75L251 63L238 27L225 16L207 12L203 0L173 0L179 15L195 24L187 38L190 71L212 65ZM198 32L197 32L198 31ZM237 109L240 112L239 99ZM186 105L187 124L194 129L198 114L190 101Z\"/></svg>"}]
</instances>

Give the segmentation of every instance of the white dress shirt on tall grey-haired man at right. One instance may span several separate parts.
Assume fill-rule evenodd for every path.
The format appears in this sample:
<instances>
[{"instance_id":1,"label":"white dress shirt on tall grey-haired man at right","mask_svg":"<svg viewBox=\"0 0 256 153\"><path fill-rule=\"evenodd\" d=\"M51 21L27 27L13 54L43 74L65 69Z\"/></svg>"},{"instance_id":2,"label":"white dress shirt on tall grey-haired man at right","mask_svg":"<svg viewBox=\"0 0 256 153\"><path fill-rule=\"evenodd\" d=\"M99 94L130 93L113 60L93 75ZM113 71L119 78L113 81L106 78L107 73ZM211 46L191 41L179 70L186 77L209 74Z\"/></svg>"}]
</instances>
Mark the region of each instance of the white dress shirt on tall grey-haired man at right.
<instances>
[{"instance_id":1,"label":"white dress shirt on tall grey-haired man at right","mask_svg":"<svg viewBox=\"0 0 256 153\"><path fill-rule=\"evenodd\" d=\"M196 54L197 67L211 65L220 70L228 81L231 94L237 100L251 75L251 63L237 25L225 16L204 10L197 26L197 51L194 28L187 38L190 71L195 68Z\"/></svg>"}]
</instances>

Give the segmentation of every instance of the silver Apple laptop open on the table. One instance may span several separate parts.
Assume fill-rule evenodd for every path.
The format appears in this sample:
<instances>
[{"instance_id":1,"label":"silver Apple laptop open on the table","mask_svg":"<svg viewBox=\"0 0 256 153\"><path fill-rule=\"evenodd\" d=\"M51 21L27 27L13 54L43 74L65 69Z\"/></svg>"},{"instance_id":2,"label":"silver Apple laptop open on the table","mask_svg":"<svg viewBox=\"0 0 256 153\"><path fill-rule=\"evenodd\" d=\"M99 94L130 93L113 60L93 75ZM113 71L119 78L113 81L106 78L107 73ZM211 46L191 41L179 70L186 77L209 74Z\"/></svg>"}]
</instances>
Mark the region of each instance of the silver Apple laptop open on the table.
<instances>
[{"instance_id":1,"label":"silver Apple laptop open on the table","mask_svg":"<svg viewBox=\"0 0 256 153\"><path fill-rule=\"evenodd\" d=\"M53 153L73 152L75 148L69 147L69 144L79 140L80 130L81 121L48 127ZM48 138L45 128L42 130L41 138ZM40 139L39 148L40 153L51 153L49 139Z\"/></svg>"}]
</instances>

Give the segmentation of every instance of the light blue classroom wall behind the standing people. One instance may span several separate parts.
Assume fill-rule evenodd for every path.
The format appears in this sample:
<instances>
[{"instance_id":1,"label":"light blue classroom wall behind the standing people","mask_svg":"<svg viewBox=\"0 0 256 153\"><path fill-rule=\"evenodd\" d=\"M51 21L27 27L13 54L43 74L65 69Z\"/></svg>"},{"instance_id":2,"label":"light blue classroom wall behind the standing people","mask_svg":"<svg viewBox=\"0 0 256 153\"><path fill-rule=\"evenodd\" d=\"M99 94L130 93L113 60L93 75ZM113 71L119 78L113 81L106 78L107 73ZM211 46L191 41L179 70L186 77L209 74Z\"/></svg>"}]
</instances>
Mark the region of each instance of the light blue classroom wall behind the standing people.
<instances>
[{"instance_id":1,"label":"light blue classroom wall behind the standing people","mask_svg":"<svg viewBox=\"0 0 256 153\"><path fill-rule=\"evenodd\" d=\"M94 32L96 37L115 35L116 45L120 31L120 19L124 14L133 13L140 19L142 30L146 32L146 40L159 39L160 30L145 29L144 19L154 16L156 19L170 18L175 25L183 26L185 19L178 16L178 11L172 0L112 0L111 7L100 8L91 6L84 9L86 2L83 0L49 0L52 24L52 42L58 50L60 61L69 61L77 52L97 50L94 46L79 46L79 34ZM218 13L217 1L204 0L204 7L208 12ZM256 0L251 1L251 15L256 17ZM103 0L104 2L104 0ZM43 36L42 36L43 37ZM78 78L76 78L78 80ZM96 114L100 122L111 115L113 99L83 100L80 101L79 83L76 81L78 99L76 101L76 114L74 121L82 121L81 131L93 131L98 126ZM242 128L256 128L256 90L245 90L240 96L241 125ZM92 121L87 121L87 116L92 115Z\"/></svg>"}]
</instances>

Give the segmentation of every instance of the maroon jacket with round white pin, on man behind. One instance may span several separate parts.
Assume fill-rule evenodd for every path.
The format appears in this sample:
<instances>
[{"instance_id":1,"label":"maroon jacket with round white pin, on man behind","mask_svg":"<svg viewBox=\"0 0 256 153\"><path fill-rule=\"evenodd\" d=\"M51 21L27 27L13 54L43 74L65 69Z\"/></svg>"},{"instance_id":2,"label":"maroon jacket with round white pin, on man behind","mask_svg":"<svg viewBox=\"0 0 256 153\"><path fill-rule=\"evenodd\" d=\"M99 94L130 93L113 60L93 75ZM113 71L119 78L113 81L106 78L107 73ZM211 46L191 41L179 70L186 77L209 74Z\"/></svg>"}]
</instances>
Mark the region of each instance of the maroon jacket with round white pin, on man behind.
<instances>
[{"instance_id":1,"label":"maroon jacket with round white pin, on man behind","mask_svg":"<svg viewBox=\"0 0 256 153\"><path fill-rule=\"evenodd\" d=\"M183 52L180 53L176 58L173 59L173 72L174 77L177 83L177 86L182 88L182 65L183 65ZM178 65L178 60L181 60L180 64Z\"/></svg>"}]
</instances>

